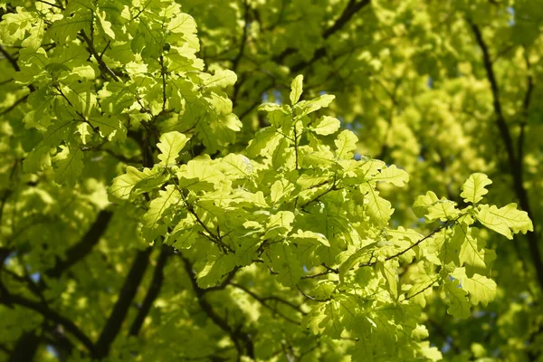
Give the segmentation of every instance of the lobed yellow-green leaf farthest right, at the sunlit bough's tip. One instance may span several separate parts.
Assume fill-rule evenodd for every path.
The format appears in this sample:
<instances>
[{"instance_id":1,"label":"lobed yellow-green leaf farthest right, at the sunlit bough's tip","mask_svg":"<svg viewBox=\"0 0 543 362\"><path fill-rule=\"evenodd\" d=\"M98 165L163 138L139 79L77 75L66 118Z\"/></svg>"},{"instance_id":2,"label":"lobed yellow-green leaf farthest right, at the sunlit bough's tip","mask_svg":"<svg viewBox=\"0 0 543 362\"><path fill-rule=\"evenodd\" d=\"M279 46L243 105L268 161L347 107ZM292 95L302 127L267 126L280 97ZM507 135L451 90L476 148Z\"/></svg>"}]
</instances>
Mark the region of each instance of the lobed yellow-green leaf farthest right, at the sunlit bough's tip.
<instances>
[{"instance_id":1,"label":"lobed yellow-green leaf farthest right, at the sunlit bough's tip","mask_svg":"<svg viewBox=\"0 0 543 362\"><path fill-rule=\"evenodd\" d=\"M495 205L481 205L475 215L484 226L501 233L508 239L513 233L533 232L534 226L525 211L517 210L517 204L509 204L500 209Z\"/></svg>"}]
</instances>

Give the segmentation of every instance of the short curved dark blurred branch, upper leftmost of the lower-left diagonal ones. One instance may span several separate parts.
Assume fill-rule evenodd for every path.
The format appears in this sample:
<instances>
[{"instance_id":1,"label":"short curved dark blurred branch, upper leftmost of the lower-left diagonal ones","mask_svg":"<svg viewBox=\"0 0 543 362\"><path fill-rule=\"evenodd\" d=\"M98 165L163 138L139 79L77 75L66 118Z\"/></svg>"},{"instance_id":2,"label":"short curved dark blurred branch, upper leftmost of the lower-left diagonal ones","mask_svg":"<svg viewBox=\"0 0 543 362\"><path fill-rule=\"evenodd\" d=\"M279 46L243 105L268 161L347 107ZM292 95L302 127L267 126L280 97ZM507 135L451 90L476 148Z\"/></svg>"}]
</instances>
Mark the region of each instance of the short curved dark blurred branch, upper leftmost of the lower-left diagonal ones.
<instances>
[{"instance_id":1,"label":"short curved dark blurred branch, upper leftmost of the lower-left diagonal ones","mask_svg":"<svg viewBox=\"0 0 543 362\"><path fill-rule=\"evenodd\" d=\"M98 213L96 220L90 226L89 231L81 238L78 243L71 246L66 252L66 258L61 261L57 259L57 262L52 269L45 271L45 274L51 278L60 278L63 271L71 268L71 266L77 262L80 262L89 252L94 245L100 241L100 237L105 233L110 224L111 216L113 213L107 210L102 210Z\"/></svg>"}]
</instances>

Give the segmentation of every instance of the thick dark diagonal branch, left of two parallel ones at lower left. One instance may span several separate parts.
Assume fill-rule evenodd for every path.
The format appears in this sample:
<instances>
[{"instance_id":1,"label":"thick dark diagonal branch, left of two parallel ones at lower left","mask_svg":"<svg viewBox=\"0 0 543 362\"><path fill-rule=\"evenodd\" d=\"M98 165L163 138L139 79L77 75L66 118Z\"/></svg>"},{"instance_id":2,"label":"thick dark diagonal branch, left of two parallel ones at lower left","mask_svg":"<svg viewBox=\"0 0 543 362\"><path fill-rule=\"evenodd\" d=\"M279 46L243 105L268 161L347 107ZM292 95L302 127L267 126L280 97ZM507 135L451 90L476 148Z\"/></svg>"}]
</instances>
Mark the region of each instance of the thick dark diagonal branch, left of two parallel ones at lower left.
<instances>
[{"instance_id":1,"label":"thick dark diagonal branch, left of two parallel ones at lower left","mask_svg":"<svg viewBox=\"0 0 543 362\"><path fill-rule=\"evenodd\" d=\"M122 322L129 312L129 307L132 304L132 300L136 296L139 283L143 279L145 271L149 263L149 255L152 248L148 247L146 250L140 251L136 254L134 262L129 271L122 289L119 293L119 299L115 303L113 310L111 311L110 318L106 322L106 325L100 333L100 338L96 343L96 352L94 357L103 358L108 356L110 352L111 343L117 337Z\"/></svg>"}]
</instances>

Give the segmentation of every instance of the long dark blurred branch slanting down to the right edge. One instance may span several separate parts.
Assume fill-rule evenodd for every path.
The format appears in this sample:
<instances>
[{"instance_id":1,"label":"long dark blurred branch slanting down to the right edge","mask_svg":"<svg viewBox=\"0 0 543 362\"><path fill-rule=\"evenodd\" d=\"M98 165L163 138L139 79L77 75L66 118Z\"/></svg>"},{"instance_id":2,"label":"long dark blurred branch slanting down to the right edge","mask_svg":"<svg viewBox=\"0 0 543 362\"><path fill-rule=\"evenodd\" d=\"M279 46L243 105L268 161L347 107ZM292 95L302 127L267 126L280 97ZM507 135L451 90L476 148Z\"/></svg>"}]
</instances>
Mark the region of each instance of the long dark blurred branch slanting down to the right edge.
<instances>
[{"instance_id":1,"label":"long dark blurred branch slanting down to the right edge","mask_svg":"<svg viewBox=\"0 0 543 362\"><path fill-rule=\"evenodd\" d=\"M500 130L500 137L503 143L505 144L505 148L507 151L507 156L508 156L509 166L510 166L510 174L513 177L513 187L515 190L515 194L517 195L517 198L519 199L519 204L522 210L526 211L526 213L528 214L531 220L535 220L534 214L532 213L531 208L529 206L528 193L526 191L526 188L524 188L522 158L517 159L517 157L515 157L515 150L513 148L513 141L510 135L510 130L508 128L507 122L501 110L500 91L498 88L498 81L496 81L496 76L494 75L494 70L492 68L491 55L489 52L489 48L487 44L484 42L484 39L482 38L482 33L481 33L481 30L479 29L479 26L477 26L477 24L472 23L470 19L468 19L468 23L472 27L472 32L473 32L473 35L475 36L475 40L477 44L479 45L479 47L481 48L484 69L486 70L487 78L489 82L491 83L492 98L493 98L492 104L494 107L494 113L496 114L496 125L498 126L498 129ZM529 98L528 98L527 104L529 106ZM526 237L528 238L529 253L530 253L532 262L534 264L534 268L536 270L536 276L538 279L539 287L543 290L543 261L541 260L541 252L539 250L539 243L538 243L539 242L538 233L537 233L535 223L534 223L534 231L531 233L527 233Z\"/></svg>"}]
</instances>

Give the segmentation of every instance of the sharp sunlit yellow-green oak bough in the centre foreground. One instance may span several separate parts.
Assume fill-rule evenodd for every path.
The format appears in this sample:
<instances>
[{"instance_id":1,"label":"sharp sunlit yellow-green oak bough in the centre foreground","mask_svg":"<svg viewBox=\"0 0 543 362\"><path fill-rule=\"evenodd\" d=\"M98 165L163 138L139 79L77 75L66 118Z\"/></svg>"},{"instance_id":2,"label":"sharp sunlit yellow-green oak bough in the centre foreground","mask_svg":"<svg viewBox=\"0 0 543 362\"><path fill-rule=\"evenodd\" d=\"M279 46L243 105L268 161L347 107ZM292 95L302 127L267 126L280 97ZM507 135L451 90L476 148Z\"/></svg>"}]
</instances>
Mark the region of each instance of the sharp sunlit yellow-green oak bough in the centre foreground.
<instances>
[{"instance_id":1,"label":"sharp sunlit yellow-green oak bough in the centre foreground","mask_svg":"<svg viewBox=\"0 0 543 362\"><path fill-rule=\"evenodd\" d=\"M291 105L262 104L271 126L255 135L244 155L176 163L189 139L163 133L160 163L117 177L111 200L141 205L138 198L150 196L143 202L144 239L153 243L160 236L189 252L199 265L198 288L224 285L233 271L263 266L275 282L304 297L301 327L355 340L355 360L392 340L395 350L387 353L416 346L421 356L437 359L439 352L417 332L424 327L414 312L424 308L433 287L456 318L469 317L473 305L495 296L489 278L494 253L472 224L510 237L529 231L531 222L514 204L480 204L491 181L473 174L461 194L471 205L462 210L433 192L415 200L417 217L439 223L432 232L390 228L394 209L377 185L404 186L407 174L376 159L352 159L355 135L343 130L332 138L338 119L315 113L333 96L300 100L301 80L292 82ZM357 354L359 348L365 353Z\"/></svg>"}]
</instances>

